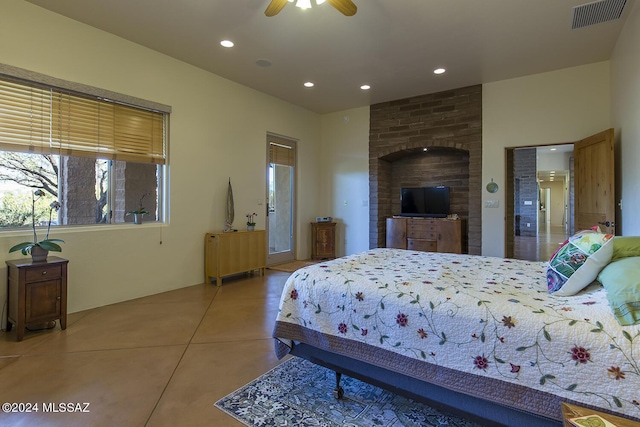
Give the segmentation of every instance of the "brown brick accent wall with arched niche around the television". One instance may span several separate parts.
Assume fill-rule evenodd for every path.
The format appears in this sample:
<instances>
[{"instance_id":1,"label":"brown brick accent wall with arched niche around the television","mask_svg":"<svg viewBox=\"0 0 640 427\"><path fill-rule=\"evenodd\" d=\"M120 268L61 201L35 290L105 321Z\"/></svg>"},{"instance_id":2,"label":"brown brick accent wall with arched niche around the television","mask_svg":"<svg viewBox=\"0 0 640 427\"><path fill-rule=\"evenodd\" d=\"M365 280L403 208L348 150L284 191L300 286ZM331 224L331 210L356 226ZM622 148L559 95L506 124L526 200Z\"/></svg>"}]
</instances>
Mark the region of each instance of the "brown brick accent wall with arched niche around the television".
<instances>
[{"instance_id":1,"label":"brown brick accent wall with arched niche around the television","mask_svg":"<svg viewBox=\"0 0 640 427\"><path fill-rule=\"evenodd\" d=\"M374 104L370 117L369 247L385 246L400 187L448 185L452 213L467 219L469 253L480 254L482 86Z\"/></svg>"}]
</instances>

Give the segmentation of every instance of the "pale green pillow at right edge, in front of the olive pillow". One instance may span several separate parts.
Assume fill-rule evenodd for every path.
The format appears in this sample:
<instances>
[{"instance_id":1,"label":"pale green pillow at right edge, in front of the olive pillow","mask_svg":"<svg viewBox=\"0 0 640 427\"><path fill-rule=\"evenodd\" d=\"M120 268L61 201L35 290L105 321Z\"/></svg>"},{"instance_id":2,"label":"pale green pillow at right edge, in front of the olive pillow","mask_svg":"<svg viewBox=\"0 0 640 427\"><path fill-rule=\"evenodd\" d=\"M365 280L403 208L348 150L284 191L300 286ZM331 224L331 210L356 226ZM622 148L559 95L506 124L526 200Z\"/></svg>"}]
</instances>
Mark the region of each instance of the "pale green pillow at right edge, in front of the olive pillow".
<instances>
[{"instance_id":1,"label":"pale green pillow at right edge, in front of the olive pillow","mask_svg":"<svg viewBox=\"0 0 640 427\"><path fill-rule=\"evenodd\" d=\"M640 256L611 262L602 269L598 280L607 290L607 299L618 323L640 324Z\"/></svg>"}]
</instances>

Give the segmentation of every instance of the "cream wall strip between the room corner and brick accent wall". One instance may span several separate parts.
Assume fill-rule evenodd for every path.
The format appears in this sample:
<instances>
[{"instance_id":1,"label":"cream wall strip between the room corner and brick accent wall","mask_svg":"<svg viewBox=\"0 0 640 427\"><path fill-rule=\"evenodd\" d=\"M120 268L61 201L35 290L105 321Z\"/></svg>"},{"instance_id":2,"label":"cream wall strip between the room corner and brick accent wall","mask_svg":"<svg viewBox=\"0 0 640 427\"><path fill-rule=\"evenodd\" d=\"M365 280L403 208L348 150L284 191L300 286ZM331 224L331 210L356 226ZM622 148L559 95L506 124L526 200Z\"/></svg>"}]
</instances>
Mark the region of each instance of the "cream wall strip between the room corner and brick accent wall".
<instances>
[{"instance_id":1,"label":"cream wall strip between the room corner and brick accent wall","mask_svg":"<svg viewBox=\"0 0 640 427\"><path fill-rule=\"evenodd\" d=\"M333 216L336 255L369 249L369 107L322 117L322 200Z\"/></svg>"}]
</instances>

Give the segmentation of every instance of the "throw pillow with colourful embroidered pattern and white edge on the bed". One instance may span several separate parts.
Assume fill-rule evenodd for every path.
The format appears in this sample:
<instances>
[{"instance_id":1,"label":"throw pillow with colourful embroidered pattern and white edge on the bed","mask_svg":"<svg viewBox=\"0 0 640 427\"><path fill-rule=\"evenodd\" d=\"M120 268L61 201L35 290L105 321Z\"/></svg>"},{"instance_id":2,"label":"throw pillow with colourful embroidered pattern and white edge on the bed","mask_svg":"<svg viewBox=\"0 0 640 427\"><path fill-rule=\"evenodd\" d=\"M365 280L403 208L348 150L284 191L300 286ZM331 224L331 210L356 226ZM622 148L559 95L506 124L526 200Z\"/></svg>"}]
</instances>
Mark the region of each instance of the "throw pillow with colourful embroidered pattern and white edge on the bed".
<instances>
[{"instance_id":1,"label":"throw pillow with colourful embroidered pattern and white edge on the bed","mask_svg":"<svg viewBox=\"0 0 640 427\"><path fill-rule=\"evenodd\" d=\"M585 230L571 236L549 261L549 292L561 296L577 294L596 279L612 255L612 234Z\"/></svg>"}]
</instances>

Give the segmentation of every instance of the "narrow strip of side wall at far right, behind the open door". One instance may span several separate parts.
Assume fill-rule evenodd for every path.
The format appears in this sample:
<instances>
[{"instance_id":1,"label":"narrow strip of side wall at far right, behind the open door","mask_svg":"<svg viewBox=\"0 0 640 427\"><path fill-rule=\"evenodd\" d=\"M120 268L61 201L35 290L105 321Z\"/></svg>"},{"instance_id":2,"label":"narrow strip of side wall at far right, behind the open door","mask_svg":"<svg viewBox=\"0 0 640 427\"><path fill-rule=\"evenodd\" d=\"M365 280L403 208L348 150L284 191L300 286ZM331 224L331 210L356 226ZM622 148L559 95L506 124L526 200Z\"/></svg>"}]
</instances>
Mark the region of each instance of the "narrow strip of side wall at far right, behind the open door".
<instances>
[{"instance_id":1,"label":"narrow strip of side wall at far right, behind the open door","mask_svg":"<svg viewBox=\"0 0 640 427\"><path fill-rule=\"evenodd\" d=\"M622 213L617 232L640 235L640 6L631 12L611 57L611 112ZM622 223L620 223L620 221Z\"/></svg>"}]
</instances>

